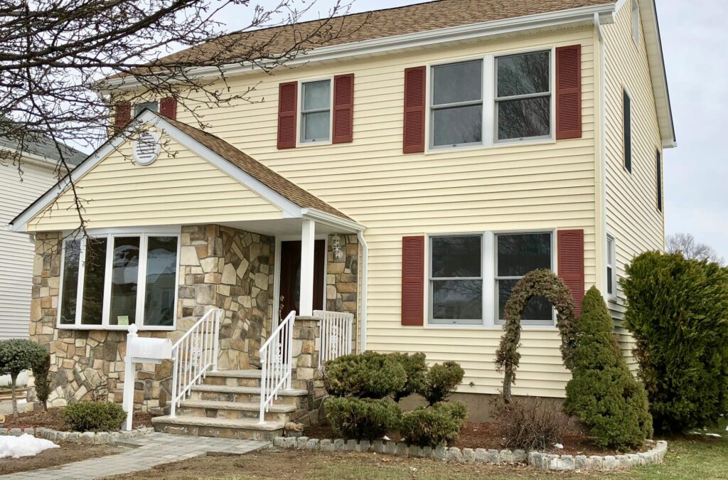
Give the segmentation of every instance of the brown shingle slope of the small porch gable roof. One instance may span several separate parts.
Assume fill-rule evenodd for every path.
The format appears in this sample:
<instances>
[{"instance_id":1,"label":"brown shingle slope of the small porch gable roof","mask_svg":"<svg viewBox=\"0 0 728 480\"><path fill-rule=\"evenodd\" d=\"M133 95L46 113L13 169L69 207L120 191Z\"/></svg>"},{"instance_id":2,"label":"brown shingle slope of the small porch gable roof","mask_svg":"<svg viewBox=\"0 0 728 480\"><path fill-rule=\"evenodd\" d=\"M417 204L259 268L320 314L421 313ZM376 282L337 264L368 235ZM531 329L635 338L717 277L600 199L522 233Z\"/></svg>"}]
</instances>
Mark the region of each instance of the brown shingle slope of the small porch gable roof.
<instances>
[{"instance_id":1,"label":"brown shingle slope of the small porch gable roof","mask_svg":"<svg viewBox=\"0 0 728 480\"><path fill-rule=\"evenodd\" d=\"M331 215L338 216L341 219L352 220L348 216L344 215L344 213L341 213L336 210L336 208L333 208L331 205L321 200L319 197L306 192L306 190L302 189L300 186L294 184L287 178L280 176L278 173L275 173L261 162L258 162L258 160L255 160L253 157L245 154L245 152L240 152L240 150L236 149L222 138L216 137L215 135L203 130L199 130L199 128L192 127L186 123L168 119L161 115L159 115L159 117L164 118L166 122L170 122L170 124L174 127L177 127L179 130L182 130L183 133L194 138L195 141L202 143L202 145L215 152L215 154L223 157L223 159L232 163L232 165L240 168L240 170L248 173L248 175L256 178L258 181L261 181L261 183L269 187L269 189L278 192L299 207L314 208L318 211L331 213Z\"/></svg>"}]
</instances>

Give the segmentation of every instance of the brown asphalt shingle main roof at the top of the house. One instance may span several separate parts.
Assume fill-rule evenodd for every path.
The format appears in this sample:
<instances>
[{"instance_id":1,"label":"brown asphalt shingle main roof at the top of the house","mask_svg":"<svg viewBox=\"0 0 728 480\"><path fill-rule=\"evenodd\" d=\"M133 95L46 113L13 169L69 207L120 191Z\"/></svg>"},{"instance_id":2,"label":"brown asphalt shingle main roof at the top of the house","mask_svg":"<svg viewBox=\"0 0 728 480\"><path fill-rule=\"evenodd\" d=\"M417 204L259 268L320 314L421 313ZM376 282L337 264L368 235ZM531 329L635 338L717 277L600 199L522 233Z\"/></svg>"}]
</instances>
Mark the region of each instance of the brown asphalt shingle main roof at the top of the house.
<instances>
[{"instance_id":1,"label":"brown asphalt shingle main roof at the top of the house","mask_svg":"<svg viewBox=\"0 0 728 480\"><path fill-rule=\"evenodd\" d=\"M615 0L438 0L371 12L314 20L296 25L228 34L197 47L168 55L160 63L221 65L241 60L269 58L290 50L314 32L304 49L362 42L387 36L412 34L470 23L503 20L595 5Z\"/></svg>"}]
</instances>

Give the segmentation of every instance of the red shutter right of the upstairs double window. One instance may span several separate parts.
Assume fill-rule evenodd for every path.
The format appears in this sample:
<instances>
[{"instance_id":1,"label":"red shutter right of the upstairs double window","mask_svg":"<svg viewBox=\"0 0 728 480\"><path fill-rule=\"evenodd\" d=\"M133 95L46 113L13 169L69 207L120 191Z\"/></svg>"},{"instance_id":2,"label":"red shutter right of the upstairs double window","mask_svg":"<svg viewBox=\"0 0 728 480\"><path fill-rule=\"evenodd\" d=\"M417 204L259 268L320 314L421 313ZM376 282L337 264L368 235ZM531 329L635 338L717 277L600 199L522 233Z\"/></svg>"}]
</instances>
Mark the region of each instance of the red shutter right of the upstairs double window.
<instances>
[{"instance_id":1,"label":"red shutter right of the upstairs double window","mask_svg":"<svg viewBox=\"0 0 728 480\"><path fill-rule=\"evenodd\" d=\"M582 46L556 49L556 140L582 137Z\"/></svg>"}]
</instances>

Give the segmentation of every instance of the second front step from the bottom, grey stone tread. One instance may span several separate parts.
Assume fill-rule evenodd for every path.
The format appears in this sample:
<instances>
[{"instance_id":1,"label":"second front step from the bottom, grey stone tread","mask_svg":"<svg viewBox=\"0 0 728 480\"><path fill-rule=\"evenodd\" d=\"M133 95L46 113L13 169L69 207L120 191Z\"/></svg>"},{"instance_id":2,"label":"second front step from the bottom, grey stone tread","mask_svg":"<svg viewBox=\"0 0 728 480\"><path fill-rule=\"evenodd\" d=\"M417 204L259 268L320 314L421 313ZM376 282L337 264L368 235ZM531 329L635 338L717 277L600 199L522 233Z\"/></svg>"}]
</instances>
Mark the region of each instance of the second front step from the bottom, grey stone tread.
<instances>
[{"instance_id":1,"label":"second front step from the bottom, grey stone tread","mask_svg":"<svg viewBox=\"0 0 728 480\"><path fill-rule=\"evenodd\" d=\"M265 420L285 423L292 418L295 412L295 405L271 405L265 413ZM300 414L305 413L305 411L300 412ZM178 409L178 414L185 417L257 419L260 414L260 404L215 400L183 400Z\"/></svg>"}]
</instances>

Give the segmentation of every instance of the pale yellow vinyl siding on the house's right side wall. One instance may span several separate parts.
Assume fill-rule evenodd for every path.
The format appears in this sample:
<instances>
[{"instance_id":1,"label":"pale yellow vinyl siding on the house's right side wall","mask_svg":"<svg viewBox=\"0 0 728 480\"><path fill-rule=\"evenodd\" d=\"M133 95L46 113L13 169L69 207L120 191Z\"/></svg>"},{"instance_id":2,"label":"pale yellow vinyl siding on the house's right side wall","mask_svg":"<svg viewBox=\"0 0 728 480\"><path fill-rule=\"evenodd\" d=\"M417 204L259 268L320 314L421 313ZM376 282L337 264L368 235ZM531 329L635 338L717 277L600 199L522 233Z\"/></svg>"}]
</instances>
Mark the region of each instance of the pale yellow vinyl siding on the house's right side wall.
<instances>
[{"instance_id":1,"label":"pale yellow vinyl siding on the house's right side wall","mask_svg":"<svg viewBox=\"0 0 728 480\"><path fill-rule=\"evenodd\" d=\"M661 149L660 130L654 103L652 80L647 62L644 32L640 42L632 38L631 4L617 13L617 22L606 25L606 228L615 238L618 278L625 275L625 264L634 256L665 247L665 219L657 210L657 170L655 154ZM632 173L624 168L622 90L631 101ZM664 185L664 182L663 182ZM617 302L610 302L620 344L630 366L636 368L631 355L634 346L622 327L625 298L617 288Z\"/></svg>"}]
</instances>

